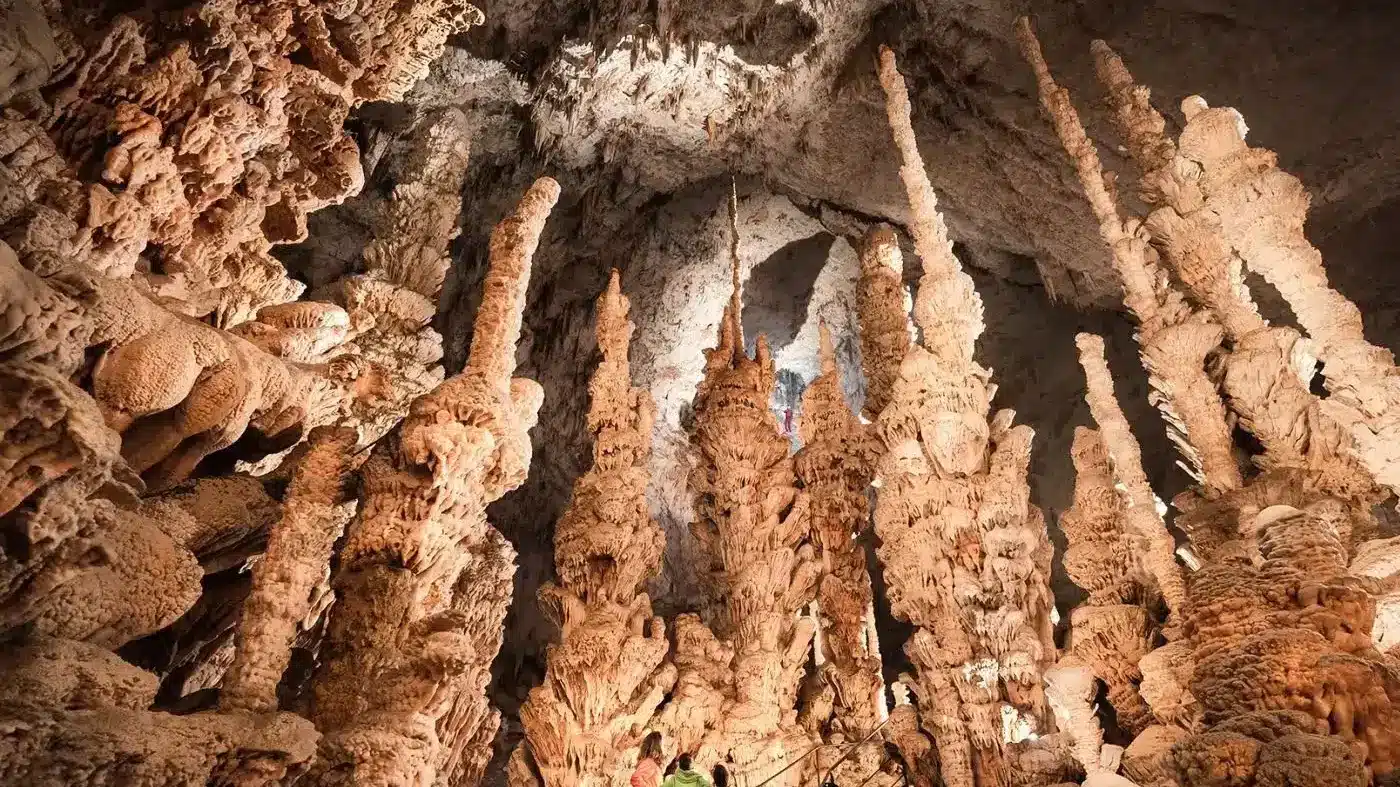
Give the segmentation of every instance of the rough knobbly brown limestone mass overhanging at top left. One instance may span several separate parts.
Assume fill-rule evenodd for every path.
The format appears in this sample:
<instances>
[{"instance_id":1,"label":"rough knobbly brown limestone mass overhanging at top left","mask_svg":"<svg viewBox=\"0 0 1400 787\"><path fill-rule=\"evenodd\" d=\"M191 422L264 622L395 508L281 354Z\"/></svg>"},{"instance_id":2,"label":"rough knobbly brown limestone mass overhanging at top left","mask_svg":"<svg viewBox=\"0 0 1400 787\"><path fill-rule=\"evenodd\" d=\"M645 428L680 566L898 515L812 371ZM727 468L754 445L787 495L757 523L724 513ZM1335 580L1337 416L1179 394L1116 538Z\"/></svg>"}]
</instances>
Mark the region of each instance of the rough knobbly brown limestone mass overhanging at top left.
<instances>
[{"instance_id":1,"label":"rough knobbly brown limestone mass overhanging at top left","mask_svg":"<svg viewBox=\"0 0 1400 787\"><path fill-rule=\"evenodd\" d=\"M185 14L199 24L116 17L31 102L28 119L56 144L46 193L18 211L20 252L137 274L232 326L301 294L269 249L305 238L307 213L363 185L343 133L351 106L402 97L482 15L442 0L297 11L199 0ZM99 182L74 176L87 171Z\"/></svg>"}]
</instances>

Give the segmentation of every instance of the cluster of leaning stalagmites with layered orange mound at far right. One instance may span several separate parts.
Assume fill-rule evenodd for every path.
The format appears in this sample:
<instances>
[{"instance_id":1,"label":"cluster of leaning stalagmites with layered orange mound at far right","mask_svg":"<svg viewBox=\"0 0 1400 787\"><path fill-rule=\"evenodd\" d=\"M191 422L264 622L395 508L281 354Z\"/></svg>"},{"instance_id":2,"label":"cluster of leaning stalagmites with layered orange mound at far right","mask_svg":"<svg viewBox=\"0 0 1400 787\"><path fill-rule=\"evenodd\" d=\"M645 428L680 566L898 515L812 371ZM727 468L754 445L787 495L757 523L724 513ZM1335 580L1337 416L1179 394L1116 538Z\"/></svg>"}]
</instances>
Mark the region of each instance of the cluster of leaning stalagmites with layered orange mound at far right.
<instances>
[{"instance_id":1,"label":"cluster of leaning stalagmites with layered orange mound at far right","mask_svg":"<svg viewBox=\"0 0 1400 787\"><path fill-rule=\"evenodd\" d=\"M1393 360L1365 343L1355 307L1329 288L1302 235L1301 183L1245 143L1238 112L1187 98L1172 140L1147 90L1095 43L1152 206L1126 220L1029 24L1018 32L1140 321L1156 403L1198 482L1173 501L1189 538L1183 583L1103 343L1081 336L1102 431L1075 436L1065 567L1089 598L1072 613L1071 653L1088 636L1085 661L1137 735L1123 769L1144 786L1389 783L1400 664L1383 611L1400 574L1394 539L1375 538L1372 507L1394 486L1373 443L1387 429ZM1260 315L1245 267L1278 288L1306 336ZM1312 392L1317 360L1324 399ZM1253 448L1231 441L1233 426Z\"/></svg>"}]
</instances>

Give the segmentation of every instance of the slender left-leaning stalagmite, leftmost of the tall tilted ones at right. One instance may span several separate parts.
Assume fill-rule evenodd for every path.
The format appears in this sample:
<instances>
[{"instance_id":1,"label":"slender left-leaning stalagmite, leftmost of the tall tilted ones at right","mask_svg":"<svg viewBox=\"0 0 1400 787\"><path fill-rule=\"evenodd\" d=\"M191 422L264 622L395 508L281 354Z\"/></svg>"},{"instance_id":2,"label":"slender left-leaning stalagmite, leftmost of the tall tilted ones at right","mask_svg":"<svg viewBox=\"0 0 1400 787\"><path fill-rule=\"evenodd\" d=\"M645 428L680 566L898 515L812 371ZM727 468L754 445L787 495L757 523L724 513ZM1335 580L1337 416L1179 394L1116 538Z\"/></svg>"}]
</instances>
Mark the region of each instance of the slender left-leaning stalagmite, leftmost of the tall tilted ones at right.
<instances>
[{"instance_id":1,"label":"slender left-leaning stalagmite, leftmost of the tall tilted ones at right","mask_svg":"<svg viewBox=\"0 0 1400 787\"><path fill-rule=\"evenodd\" d=\"M1222 330L1207 315L1193 314L1170 286L1151 246L1147 227L1120 214L1105 182L1099 154L1070 102L1068 91L1054 83L1040 43L1025 18L1016 22L1016 38L1036 74L1040 104L1050 115L1099 220L1099 232L1109 245L1113 267L1123 283L1123 304L1138 321L1138 346L1154 389L1154 403L1183 455L1183 468L1211 493L1239 489L1242 476L1225 426L1225 406L1204 371L1205 356L1219 344Z\"/></svg>"}]
</instances>

